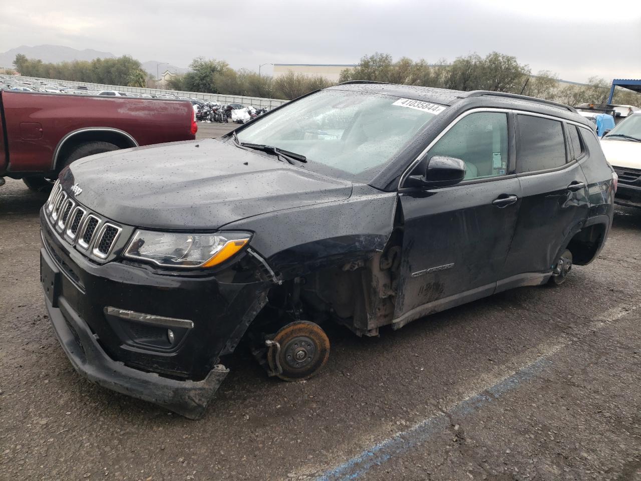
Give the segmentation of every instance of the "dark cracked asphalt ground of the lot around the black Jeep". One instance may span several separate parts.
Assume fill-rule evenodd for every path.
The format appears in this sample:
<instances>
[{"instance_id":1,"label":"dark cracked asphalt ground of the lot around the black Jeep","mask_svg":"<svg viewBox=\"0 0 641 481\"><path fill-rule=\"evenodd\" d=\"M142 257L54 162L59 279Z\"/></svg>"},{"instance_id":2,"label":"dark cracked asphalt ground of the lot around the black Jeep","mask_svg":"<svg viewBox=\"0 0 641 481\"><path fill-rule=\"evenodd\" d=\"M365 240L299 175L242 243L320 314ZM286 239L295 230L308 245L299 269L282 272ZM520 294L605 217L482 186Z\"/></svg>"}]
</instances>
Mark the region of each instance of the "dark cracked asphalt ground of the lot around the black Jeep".
<instances>
[{"instance_id":1,"label":"dark cracked asphalt ground of the lot around the black Jeep","mask_svg":"<svg viewBox=\"0 0 641 481\"><path fill-rule=\"evenodd\" d=\"M188 421L72 369L38 282L44 200L0 188L0 480L641 481L641 212L617 210L601 256L556 289L379 338L330 328L308 382L239 350Z\"/></svg>"}]
</instances>

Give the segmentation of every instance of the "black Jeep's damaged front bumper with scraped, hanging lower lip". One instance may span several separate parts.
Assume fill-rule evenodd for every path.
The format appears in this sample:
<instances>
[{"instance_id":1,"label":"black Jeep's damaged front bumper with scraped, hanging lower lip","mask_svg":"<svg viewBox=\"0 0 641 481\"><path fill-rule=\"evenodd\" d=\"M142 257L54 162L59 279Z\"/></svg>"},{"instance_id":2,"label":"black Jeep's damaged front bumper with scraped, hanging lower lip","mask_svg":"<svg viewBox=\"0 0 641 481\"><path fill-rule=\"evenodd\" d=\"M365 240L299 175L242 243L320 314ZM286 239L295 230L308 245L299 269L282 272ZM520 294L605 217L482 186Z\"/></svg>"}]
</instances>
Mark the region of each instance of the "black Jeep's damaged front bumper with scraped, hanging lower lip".
<instances>
[{"instance_id":1,"label":"black Jeep's damaged front bumper with scraped, hanging lower lip","mask_svg":"<svg viewBox=\"0 0 641 481\"><path fill-rule=\"evenodd\" d=\"M113 391L201 417L228 373L219 357L234 350L265 305L268 283L238 266L189 277L121 262L96 264L63 241L42 211L40 224L46 306L76 371ZM108 306L190 319L194 327L176 346L157 346L156 339L149 342L149 326L115 319L106 314ZM135 338L140 332L142 342Z\"/></svg>"}]
</instances>

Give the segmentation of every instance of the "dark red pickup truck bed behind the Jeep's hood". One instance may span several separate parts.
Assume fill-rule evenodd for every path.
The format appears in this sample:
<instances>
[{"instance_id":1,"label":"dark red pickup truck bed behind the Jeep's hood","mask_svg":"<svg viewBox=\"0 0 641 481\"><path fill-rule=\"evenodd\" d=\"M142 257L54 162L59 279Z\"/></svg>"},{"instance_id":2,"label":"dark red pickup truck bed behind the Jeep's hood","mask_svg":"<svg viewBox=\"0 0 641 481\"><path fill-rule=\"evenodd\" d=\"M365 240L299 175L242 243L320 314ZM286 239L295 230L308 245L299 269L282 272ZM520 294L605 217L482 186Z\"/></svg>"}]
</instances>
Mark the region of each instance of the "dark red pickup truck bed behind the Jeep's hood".
<instances>
[{"instance_id":1,"label":"dark red pickup truck bed behind the Jeep's hood","mask_svg":"<svg viewBox=\"0 0 641 481\"><path fill-rule=\"evenodd\" d=\"M48 189L66 165L115 149L194 140L189 101L0 90L0 185Z\"/></svg>"}]
</instances>

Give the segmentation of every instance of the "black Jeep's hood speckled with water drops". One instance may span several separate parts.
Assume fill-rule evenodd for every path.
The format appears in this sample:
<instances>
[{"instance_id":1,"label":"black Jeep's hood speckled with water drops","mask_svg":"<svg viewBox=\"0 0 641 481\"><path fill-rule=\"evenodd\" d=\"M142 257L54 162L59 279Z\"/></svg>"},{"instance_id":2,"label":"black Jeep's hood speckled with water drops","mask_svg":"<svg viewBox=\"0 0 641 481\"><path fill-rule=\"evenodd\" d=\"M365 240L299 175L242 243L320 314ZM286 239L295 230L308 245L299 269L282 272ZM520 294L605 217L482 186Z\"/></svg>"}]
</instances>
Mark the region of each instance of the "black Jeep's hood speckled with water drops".
<instances>
[{"instance_id":1,"label":"black Jeep's hood speckled with water drops","mask_svg":"<svg viewBox=\"0 0 641 481\"><path fill-rule=\"evenodd\" d=\"M220 140L88 156L61 176L77 201L115 222L213 230L239 219L349 198L352 184ZM72 194L70 194L72 195Z\"/></svg>"}]
</instances>

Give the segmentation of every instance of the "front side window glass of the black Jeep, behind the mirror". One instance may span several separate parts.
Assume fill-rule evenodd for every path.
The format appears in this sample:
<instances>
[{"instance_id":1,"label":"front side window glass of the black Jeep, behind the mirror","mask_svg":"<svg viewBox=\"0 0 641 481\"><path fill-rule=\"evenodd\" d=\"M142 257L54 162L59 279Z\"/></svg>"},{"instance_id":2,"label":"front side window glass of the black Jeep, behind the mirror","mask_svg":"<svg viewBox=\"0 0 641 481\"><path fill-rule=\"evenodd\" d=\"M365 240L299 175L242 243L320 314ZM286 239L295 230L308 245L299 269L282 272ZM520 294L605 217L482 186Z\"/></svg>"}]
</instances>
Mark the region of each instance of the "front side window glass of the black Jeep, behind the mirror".
<instances>
[{"instance_id":1,"label":"front side window glass of the black Jeep, behind the mirror","mask_svg":"<svg viewBox=\"0 0 641 481\"><path fill-rule=\"evenodd\" d=\"M458 121L427 154L460 158L465 180L505 175L508 169L508 116L478 112Z\"/></svg>"}]
</instances>

